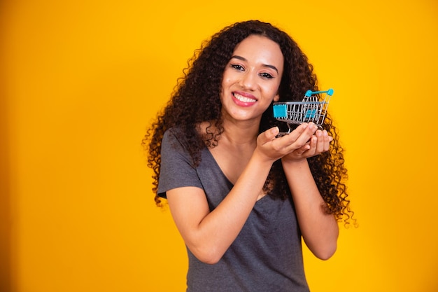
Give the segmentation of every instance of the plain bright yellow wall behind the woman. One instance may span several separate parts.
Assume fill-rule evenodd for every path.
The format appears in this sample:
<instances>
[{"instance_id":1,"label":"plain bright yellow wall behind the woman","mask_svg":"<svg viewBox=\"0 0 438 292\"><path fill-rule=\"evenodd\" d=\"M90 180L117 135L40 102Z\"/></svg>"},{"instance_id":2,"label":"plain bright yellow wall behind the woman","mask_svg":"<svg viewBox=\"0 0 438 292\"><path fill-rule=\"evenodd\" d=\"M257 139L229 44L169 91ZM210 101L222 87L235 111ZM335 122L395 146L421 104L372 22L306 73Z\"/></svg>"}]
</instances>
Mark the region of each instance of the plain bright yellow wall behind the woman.
<instances>
[{"instance_id":1,"label":"plain bright yellow wall behind the woman","mask_svg":"<svg viewBox=\"0 0 438 292\"><path fill-rule=\"evenodd\" d=\"M213 2L2 2L3 291L183 291L140 141L201 41L250 18L335 90L360 227L305 251L312 291L437 291L437 2Z\"/></svg>"}]
</instances>

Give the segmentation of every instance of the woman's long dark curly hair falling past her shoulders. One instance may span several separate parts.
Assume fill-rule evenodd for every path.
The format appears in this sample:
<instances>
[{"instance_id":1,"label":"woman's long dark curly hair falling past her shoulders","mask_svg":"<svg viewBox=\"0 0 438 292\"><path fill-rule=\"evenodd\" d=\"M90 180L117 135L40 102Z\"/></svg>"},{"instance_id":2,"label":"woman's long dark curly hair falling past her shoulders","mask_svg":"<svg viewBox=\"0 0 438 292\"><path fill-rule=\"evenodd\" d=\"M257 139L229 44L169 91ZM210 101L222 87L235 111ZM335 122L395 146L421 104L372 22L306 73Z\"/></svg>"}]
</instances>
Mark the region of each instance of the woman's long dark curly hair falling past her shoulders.
<instances>
[{"instance_id":1,"label":"woman's long dark curly hair falling past her shoulders","mask_svg":"<svg viewBox=\"0 0 438 292\"><path fill-rule=\"evenodd\" d=\"M157 195L157 186L164 132L171 127L181 128L195 167L201 160L202 148L218 144L223 132L220 102L222 74L236 45L250 35L265 36L281 48L284 70L278 90L279 102L301 101L307 90L318 90L318 80L306 55L288 34L270 23L258 20L237 22L204 41L188 61L188 67L183 70L184 77L178 79L167 106L157 114L142 140L148 153L148 167L153 169L153 192L158 206L162 205L162 198ZM199 133L198 126L205 122L210 126L206 127L204 133ZM283 127L284 124L274 118L271 104L262 115L259 132L274 126ZM339 144L339 135L330 114L327 113L322 127L334 139L330 151L308 158L308 162L320 194L327 204L327 212L334 214L337 221L344 221L348 225L353 218L353 211L349 206L350 200L344 183L347 178L344 149ZM282 200L290 197L281 160L272 165L264 190L271 197Z\"/></svg>"}]
</instances>

